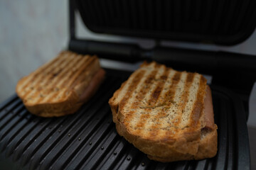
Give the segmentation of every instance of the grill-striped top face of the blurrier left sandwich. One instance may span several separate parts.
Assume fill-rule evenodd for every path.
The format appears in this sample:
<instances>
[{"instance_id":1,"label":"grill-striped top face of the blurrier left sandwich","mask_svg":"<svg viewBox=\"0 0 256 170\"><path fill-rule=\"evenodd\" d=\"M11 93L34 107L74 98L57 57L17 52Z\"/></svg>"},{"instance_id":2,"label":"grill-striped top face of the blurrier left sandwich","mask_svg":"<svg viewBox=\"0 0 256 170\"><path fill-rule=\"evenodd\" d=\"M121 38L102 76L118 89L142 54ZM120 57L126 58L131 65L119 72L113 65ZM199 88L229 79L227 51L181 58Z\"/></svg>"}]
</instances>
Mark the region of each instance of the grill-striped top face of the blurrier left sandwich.
<instances>
[{"instance_id":1,"label":"grill-striped top face of the blurrier left sandwich","mask_svg":"<svg viewBox=\"0 0 256 170\"><path fill-rule=\"evenodd\" d=\"M65 101L73 95L71 92L76 84L85 79L89 84L89 79L100 68L96 60L95 56L61 52L28 77L23 77L21 86L16 90L28 105Z\"/></svg>"}]
</instances>

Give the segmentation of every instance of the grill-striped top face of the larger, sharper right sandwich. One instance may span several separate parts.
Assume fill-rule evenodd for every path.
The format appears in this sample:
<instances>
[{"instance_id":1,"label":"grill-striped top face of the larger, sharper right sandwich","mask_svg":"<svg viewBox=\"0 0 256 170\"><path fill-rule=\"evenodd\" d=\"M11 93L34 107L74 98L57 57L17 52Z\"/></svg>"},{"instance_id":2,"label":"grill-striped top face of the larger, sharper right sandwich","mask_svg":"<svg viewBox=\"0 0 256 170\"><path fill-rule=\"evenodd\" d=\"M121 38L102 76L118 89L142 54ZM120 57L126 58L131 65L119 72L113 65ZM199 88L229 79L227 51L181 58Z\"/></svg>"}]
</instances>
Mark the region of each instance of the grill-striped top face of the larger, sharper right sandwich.
<instances>
[{"instance_id":1,"label":"grill-striped top face of the larger, sharper right sandwich","mask_svg":"<svg viewBox=\"0 0 256 170\"><path fill-rule=\"evenodd\" d=\"M177 72L156 62L142 64L114 98L117 112L122 112L118 120L134 135L171 137L200 124L204 87L206 79L200 74Z\"/></svg>"}]
</instances>

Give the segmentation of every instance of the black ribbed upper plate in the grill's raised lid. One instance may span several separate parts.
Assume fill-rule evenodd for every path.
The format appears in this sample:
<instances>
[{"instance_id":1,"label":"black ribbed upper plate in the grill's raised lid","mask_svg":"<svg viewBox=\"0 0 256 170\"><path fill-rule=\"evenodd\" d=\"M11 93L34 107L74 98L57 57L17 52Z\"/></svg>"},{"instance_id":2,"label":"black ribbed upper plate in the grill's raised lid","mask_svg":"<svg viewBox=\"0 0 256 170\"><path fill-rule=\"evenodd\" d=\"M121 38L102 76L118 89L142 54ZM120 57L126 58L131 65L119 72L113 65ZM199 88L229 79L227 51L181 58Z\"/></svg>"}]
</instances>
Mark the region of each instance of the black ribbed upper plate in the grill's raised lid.
<instances>
[{"instance_id":1,"label":"black ribbed upper plate in the grill's raised lid","mask_svg":"<svg viewBox=\"0 0 256 170\"><path fill-rule=\"evenodd\" d=\"M76 0L99 33L234 44L255 29L254 0Z\"/></svg>"}]
</instances>

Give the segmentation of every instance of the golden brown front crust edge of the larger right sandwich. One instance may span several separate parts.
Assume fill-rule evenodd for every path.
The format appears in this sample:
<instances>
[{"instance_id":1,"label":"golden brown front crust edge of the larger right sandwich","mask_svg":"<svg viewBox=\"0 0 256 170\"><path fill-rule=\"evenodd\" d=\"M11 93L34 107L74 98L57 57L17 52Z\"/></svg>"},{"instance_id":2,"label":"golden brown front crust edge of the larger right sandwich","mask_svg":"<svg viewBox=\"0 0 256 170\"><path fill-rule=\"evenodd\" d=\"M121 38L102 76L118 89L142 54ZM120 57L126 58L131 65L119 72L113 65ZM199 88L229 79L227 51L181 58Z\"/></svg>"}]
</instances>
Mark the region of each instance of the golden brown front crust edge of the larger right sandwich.
<instances>
[{"instance_id":1,"label":"golden brown front crust edge of the larger right sandwich","mask_svg":"<svg viewBox=\"0 0 256 170\"><path fill-rule=\"evenodd\" d=\"M208 133L203 140L188 141L186 136L176 140L156 142L132 135L123 123L115 122L117 132L128 142L142 152L148 154L149 159L159 162L175 162L191 159L206 159L214 157L217 152L217 130Z\"/></svg>"}]
</instances>

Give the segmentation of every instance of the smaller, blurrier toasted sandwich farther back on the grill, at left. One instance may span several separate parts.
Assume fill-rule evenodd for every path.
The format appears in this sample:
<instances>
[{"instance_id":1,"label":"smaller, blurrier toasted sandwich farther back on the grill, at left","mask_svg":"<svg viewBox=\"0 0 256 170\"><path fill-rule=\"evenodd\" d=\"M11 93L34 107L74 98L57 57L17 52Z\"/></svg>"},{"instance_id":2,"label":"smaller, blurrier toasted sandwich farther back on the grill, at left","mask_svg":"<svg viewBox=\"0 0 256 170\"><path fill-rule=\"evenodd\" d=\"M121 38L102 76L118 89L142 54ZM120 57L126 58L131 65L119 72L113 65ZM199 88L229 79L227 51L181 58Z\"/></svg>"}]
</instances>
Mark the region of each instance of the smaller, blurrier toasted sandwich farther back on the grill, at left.
<instances>
[{"instance_id":1,"label":"smaller, blurrier toasted sandwich farther back on the grill, at left","mask_svg":"<svg viewBox=\"0 0 256 170\"><path fill-rule=\"evenodd\" d=\"M97 90L104 70L96 56L60 52L18 81L16 93L33 114L42 117L75 113Z\"/></svg>"}]
</instances>

